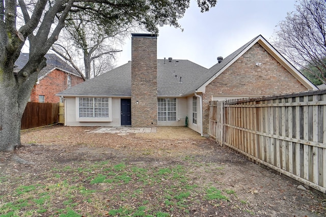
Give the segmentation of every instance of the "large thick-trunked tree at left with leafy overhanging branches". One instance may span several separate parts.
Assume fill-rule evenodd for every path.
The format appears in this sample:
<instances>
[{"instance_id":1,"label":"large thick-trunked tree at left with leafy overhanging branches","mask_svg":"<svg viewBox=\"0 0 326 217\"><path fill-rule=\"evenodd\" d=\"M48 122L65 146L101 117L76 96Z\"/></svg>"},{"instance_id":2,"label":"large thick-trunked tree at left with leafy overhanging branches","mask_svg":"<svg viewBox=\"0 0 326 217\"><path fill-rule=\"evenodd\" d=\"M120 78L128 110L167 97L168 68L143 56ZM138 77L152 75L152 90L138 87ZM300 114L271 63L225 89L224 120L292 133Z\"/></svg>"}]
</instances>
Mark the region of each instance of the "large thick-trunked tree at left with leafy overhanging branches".
<instances>
[{"instance_id":1,"label":"large thick-trunked tree at left with leafy overhanging branches","mask_svg":"<svg viewBox=\"0 0 326 217\"><path fill-rule=\"evenodd\" d=\"M157 33L159 25L180 28L178 19L183 17L189 1L0 0L0 151L14 152L21 146L21 117L38 73L45 66L44 55L58 40L71 14L83 11L96 16L103 25L137 22L149 32ZM205 11L215 6L216 0L197 2ZM14 72L26 39L30 59Z\"/></svg>"}]
</instances>

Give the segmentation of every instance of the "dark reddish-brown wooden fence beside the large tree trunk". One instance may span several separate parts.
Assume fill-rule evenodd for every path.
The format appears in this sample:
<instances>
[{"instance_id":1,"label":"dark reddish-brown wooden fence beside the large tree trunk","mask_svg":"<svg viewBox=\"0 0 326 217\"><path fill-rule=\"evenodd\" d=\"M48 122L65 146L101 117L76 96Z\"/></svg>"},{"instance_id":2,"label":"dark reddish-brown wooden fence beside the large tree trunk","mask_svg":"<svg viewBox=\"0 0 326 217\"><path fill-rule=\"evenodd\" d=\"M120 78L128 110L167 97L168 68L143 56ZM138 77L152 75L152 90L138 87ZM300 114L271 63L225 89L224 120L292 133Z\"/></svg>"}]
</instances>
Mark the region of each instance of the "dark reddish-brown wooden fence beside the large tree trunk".
<instances>
[{"instance_id":1,"label":"dark reddish-brown wooden fence beside the large tree trunk","mask_svg":"<svg viewBox=\"0 0 326 217\"><path fill-rule=\"evenodd\" d=\"M59 103L28 102L21 118L21 129L58 123Z\"/></svg>"}]
</instances>

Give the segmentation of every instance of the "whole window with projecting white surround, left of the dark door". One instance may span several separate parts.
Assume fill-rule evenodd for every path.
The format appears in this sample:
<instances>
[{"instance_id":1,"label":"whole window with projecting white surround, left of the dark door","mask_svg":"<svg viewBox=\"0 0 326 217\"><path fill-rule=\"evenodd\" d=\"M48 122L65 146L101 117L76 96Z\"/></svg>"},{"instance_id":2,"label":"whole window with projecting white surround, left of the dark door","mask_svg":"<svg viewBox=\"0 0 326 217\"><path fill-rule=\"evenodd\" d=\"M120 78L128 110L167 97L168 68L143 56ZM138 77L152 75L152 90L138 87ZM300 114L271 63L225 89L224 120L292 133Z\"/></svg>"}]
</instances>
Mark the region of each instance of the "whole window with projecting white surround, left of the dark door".
<instances>
[{"instance_id":1,"label":"whole window with projecting white surround, left of the dark door","mask_svg":"<svg viewBox=\"0 0 326 217\"><path fill-rule=\"evenodd\" d=\"M112 121L111 98L107 97L79 97L79 121Z\"/></svg>"}]
</instances>

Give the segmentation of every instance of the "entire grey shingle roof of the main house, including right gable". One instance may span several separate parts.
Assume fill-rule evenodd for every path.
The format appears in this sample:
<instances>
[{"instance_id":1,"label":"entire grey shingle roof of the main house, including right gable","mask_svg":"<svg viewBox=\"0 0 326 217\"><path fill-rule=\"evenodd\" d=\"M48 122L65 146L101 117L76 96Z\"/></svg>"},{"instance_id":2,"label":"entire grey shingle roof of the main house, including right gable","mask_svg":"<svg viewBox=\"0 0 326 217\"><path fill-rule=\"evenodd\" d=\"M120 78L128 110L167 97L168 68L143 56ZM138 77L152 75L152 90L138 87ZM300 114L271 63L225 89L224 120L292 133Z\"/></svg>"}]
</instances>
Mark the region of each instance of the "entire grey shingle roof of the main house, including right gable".
<instances>
[{"instance_id":1,"label":"entire grey shingle roof of the main house, including right gable","mask_svg":"<svg viewBox=\"0 0 326 217\"><path fill-rule=\"evenodd\" d=\"M188 60L157 60L157 96L180 97L194 94L194 92L205 93L205 87L211 83L212 80L218 77L256 43L259 43L308 90L317 90L316 86L259 35L210 69L206 69ZM87 80L82 84L58 93L57 95L131 96L131 61L109 72Z\"/></svg>"}]
</instances>

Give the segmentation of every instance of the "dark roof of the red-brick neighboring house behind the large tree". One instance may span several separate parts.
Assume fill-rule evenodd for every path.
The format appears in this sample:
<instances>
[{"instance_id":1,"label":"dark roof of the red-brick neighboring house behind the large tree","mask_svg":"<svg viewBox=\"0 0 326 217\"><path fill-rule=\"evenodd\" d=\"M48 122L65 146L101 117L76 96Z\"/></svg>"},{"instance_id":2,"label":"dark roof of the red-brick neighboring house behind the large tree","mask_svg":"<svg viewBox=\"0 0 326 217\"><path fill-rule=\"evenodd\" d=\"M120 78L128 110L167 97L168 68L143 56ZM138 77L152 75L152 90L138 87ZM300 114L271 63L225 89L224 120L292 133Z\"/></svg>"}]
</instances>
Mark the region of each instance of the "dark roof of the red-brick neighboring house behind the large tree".
<instances>
[{"instance_id":1,"label":"dark roof of the red-brick neighboring house behind the large tree","mask_svg":"<svg viewBox=\"0 0 326 217\"><path fill-rule=\"evenodd\" d=\"M38 78L44 77L48 72L52 71L53 69L60 69L75 76L81 77L74 68L72 68L68 63L59 58L55 53L47 53L44 57L46 58L46 66L40 71ZM18 59L15 62L15 66L17 66L16 69L22 69L29 61L29 58L29 53L20 53Z\"/></svg>"}]
</instances>

